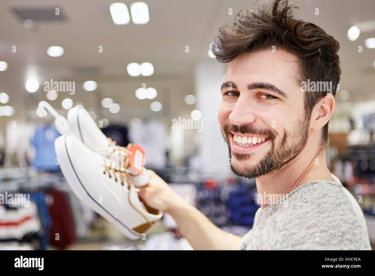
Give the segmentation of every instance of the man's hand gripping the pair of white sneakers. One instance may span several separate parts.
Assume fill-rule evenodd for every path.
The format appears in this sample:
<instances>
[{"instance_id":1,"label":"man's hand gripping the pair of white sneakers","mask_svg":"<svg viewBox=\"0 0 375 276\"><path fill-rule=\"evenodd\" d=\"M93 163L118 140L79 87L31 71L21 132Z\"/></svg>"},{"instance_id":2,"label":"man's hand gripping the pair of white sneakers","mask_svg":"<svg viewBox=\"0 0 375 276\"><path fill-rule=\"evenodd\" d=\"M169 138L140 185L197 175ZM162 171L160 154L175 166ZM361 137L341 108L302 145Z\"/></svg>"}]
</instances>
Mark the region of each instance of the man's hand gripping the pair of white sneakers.
<instances>
[{"instance_id":1,"label":"man's hand gripping the pair of white sneakers","mask_svg":"<svg viewBox=\"0 0 375 276\"><path fill-rule=\"evenodd\" d=\"M138 187L138 196L146 204L156 210L168 213L176 204L183 204L184 200L153 170L147 170L150 182L144 187Z\"/></svg>"}]
</instances>

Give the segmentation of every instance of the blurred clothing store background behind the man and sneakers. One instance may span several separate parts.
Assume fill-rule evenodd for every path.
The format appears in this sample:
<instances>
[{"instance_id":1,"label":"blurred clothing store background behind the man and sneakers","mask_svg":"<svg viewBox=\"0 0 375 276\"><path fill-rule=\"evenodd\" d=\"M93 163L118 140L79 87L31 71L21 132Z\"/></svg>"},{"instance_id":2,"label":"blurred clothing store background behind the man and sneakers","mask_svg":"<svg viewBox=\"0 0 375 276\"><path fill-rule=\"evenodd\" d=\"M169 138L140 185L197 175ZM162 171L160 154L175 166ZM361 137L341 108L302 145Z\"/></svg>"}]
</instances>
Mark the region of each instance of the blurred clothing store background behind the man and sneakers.
<instances>
[{"instance_id":1,"label":"blurred clothing store background behind the man and sneakers","mask_svg":"<svg viewBox=\"0 0 375 276\"><path fill-rule=\"evenodd\" d=\"M217 29L252 3L2 0L0 194L28 194L31 203L0 204L0 249L191 249L167 214L146 240L130 241L81 204L55 165L59 134L54 118L37 111L40 101L63 116L83 106L119 145L139 143L146 167L213 223L237 235L249 231L259 208L255 181L229 168L217 122L227 64L209 46ZM341 44L327 159L359 199L374 246L375 3L296 4L300 17ZM54 81L67 86L47 84ZM183 119L194 127L173 124Z\"/></svg>"}]
</instances>

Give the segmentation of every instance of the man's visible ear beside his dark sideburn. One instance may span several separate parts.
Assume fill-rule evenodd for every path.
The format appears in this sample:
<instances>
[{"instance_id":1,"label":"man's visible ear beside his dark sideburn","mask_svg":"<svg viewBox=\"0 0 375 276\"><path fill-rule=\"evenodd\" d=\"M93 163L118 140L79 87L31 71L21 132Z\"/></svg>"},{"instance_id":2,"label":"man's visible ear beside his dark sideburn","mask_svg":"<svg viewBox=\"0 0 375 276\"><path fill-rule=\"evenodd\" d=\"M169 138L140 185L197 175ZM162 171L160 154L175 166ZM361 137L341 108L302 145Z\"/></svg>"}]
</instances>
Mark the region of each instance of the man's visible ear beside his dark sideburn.
<instances>
[{"instance_id":1,"label":"man's visible ear beside his dark sideburn","mask_svg":"<svg viewBox=\"0 0 375 276\"><path fill-rule=\"evenodd\" d=\"M311 116L312 129L323 128L331 118L333 110L335 110L335 97L332 94L327 94L314 107L313 116Z\"/></svg>"}]
</instances>

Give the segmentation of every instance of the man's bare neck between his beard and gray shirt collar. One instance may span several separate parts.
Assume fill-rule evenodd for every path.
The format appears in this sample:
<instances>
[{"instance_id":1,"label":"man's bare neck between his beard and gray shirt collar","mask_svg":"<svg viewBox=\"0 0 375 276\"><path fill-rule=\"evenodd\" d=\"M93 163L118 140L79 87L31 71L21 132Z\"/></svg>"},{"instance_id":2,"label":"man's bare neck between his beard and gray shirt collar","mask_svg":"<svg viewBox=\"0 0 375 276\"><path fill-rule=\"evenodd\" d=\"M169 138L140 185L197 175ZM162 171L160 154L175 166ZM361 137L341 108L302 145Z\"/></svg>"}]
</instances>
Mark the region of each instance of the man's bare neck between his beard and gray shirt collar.
<instances>
[{"instance_id":1,"label":"man's bare neck between his beard and gray shirt collar","mask_svg":"<svg viewBox=\"0 0 375 276\"><path fill-rule=\"evenodd\" d=\"M318 153L309 150L309 148L311 147L307 144L299 155L281 169L256 179L262 209L307 182L335 181L327 168L325 148ZM269 198L268 201L264 198L265 195Z\"/></svg>"}]
</instances>

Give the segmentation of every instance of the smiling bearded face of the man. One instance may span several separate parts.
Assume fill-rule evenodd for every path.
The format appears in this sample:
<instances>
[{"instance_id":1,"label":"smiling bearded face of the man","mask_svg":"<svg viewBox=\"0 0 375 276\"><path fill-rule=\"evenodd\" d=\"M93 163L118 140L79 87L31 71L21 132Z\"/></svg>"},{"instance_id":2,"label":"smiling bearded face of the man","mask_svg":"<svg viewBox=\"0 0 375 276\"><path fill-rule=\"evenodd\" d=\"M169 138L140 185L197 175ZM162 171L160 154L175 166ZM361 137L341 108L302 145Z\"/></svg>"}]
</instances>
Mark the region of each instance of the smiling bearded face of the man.
<instances>
[{"instance_id":1,"label":"smiling bearded face of the man","mask_svg":"<svg viewBox=\"0 0 375 276\"><path fill-rule=\"evenodd\" d=\"M229 63L217 117L237 175L256 178L280 169L305 147L310 118L294 77L296 60L265 50Z\"/></svg>"}]
</instances>

